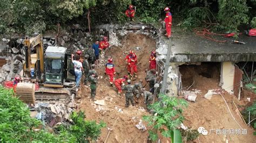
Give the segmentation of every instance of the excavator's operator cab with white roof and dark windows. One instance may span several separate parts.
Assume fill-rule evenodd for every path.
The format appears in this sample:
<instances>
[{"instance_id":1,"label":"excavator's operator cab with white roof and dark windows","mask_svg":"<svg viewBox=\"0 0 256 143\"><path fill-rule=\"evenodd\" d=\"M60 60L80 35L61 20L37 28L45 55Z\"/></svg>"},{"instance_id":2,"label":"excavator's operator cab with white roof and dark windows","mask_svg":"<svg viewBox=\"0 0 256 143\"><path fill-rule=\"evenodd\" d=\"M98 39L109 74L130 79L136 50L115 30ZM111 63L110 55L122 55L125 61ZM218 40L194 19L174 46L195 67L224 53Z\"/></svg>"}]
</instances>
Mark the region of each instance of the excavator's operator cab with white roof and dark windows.
<instances>
[{"instance_id":1,"label":"excavator's operator cab with white roof and dark windows","mask_svg":"<svg viewBox=\"0 0 256 143\"><path fill-rule=\"evenodd\" d=\"M62 88L66 48L49 46L44 52L44 87Z\"/></svg>"}]
</instances>

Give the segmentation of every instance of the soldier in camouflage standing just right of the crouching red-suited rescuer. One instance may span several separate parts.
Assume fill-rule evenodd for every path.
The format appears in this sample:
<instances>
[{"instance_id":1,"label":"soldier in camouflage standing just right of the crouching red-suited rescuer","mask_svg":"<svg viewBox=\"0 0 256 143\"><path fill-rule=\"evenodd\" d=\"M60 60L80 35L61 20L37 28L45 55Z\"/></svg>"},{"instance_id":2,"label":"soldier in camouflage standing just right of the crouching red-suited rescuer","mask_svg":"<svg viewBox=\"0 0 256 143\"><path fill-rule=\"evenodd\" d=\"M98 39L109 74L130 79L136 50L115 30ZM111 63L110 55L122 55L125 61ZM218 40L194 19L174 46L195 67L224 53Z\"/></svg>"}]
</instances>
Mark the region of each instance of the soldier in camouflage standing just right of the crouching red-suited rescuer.
<instances>
[{"instance_id":1,"label":"soldier in camouflage standing just right of the crouching red-suited rescuer","mask_svg":"<svg viewBox=\"0 0 256 143\"><path fill-rule=\"evenodd\" d=\"M129 107L129 102L131 101L132 106L134 106L134 102L133 102L133 85L131 85L131 80L127 80L127 85L124 85L124 87L122 87L123 90L126 90L125 92L125 107Z\"/></svg>"}]
</instances>

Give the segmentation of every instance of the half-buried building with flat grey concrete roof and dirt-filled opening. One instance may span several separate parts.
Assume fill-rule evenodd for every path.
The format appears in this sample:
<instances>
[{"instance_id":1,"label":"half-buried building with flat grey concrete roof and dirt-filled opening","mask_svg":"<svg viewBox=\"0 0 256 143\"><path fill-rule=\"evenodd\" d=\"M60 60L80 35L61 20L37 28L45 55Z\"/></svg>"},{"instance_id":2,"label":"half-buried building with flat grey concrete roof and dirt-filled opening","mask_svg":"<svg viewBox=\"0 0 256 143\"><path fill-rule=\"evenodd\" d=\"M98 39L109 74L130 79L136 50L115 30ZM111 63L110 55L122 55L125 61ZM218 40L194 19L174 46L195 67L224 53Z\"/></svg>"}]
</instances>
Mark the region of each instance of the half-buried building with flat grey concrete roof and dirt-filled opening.
<instances>
[{"instance_id":1,"label":"half-buried building with flat grey concrete roof and dirt-filled opening","mask_svg":"<svg viewBox=\"0 0 256 143\"><path fill-rule=\"evenodd\" d=\"M216 42L194 33L173 35L170 66L176 76L169 80L170 95L179 95L184 87L193 85L194 76L200 75L217 79L219 87L240 99L242 83L255 77L255 37L240 35L239 40L245 44L237 44L230 38L223 38L225 42ZM248 70L245 70L246 65L250 65ZM242 81L243 74L248 80Z\"/></svg>"}]
</instances>

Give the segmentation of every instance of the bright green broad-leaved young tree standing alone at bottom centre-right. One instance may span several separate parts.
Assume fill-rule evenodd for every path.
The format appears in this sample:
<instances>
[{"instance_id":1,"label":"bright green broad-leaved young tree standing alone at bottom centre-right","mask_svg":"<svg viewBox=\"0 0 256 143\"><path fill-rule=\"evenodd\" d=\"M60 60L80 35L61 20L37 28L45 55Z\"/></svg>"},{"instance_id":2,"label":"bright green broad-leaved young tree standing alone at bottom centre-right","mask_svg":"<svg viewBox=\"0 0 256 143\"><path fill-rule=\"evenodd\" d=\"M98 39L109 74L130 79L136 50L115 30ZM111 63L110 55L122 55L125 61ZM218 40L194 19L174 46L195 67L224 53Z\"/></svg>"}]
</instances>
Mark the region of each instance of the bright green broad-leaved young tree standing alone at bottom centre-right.
<instances>
[{"instance_id":1,"label":"bright green broad-leaved young tree standing alone at bottom centre-right","mask_svg":"<svg viewBox=\"0 0 256 143\"><path fill-rule=\"evenodd\" d=\"M159 98L161 98L161 102L158 101L150 106L154 115L143 117L148 122L148 126L152 126L149 131L150 139L156 141L157 133L160 131L164 137L171 138L172 142L181 142L181 133L177 127L184 120L182 112L188 104L184 99L163 94L160 94Z\"/></svg>"}]
</instances>

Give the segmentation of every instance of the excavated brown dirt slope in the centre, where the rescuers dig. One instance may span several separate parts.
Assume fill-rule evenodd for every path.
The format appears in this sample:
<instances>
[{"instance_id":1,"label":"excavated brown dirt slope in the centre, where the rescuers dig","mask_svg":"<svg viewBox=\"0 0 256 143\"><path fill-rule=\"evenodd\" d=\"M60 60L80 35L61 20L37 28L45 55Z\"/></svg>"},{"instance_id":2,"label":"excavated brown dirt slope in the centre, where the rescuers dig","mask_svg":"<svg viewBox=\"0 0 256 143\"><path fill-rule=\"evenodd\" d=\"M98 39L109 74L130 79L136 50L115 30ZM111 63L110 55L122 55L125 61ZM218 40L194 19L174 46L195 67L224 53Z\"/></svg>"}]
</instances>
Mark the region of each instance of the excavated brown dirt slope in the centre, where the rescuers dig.
<instances>
[{"instance_id":1,"label":"excavated brown dirt slope in the centre, where the rescuers dig","mask_svg":"<svg viewBox=\"0 0 256 143\"><path fill-rule=\"evenodd\" d=\"M149 56L152 50L156 46L154 39L147 37L143 34L131 33L122 39L122 47L113 46L111 49L107 49L105 52L105 59L113 58L113 63L116 67L116 78L127 75L125 56L132 49L136 52L138 57L138 80L143 80L143 84L146 85L144 78L146 76L145 70L149 67ZM105 105L99 106L90 102L90 88L83 87L82 91L82 105L79 110L85 111L87 119L103 120L107 127L113 129L111 131L107 142L144 142L147 138L147 132L139 131L135 125L139 123L142 116L147 115L145 110L146 106L143 103L143 97L140 96L136 99L136 106L130 106L125 108L125 96L117 97L116 89L109 86L109 79L104 75L105 67L97 67L99 73L99 83L97 86L96 99L104 99ZM136 82L133 81L132 83ZM113 126L114 122L116 124ZM102 130L99 141L104 141L107 136L107 128Z\"/></svg>"}]
</instances>

